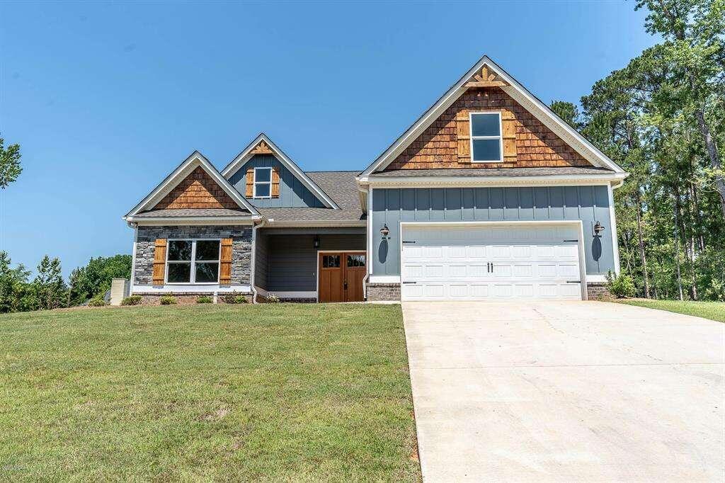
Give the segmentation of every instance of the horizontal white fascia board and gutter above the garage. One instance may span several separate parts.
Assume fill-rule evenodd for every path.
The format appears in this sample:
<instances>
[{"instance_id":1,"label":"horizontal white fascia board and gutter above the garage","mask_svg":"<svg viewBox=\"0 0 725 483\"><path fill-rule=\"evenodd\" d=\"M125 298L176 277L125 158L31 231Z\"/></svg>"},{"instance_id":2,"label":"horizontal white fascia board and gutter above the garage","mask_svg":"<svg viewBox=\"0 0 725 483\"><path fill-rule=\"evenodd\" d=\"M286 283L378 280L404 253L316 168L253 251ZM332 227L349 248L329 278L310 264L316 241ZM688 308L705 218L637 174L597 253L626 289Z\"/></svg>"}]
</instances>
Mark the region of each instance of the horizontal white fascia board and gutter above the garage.
<instances>
[{"instance_id":1,"label":"horizontal white fascia board and gutter above the garage","mask_svg":"<svg viewBox=\"0 0 725 483\"><path fill-rule=\"evenodd\" d=\"M609 185L628 176L627 173L612 173L601 176L399 176L386 178L360 178L365 183L376 188L436 188L436 187L506 187L506 186L580 186L580 185Z\"/></svg>"}]
</instances>

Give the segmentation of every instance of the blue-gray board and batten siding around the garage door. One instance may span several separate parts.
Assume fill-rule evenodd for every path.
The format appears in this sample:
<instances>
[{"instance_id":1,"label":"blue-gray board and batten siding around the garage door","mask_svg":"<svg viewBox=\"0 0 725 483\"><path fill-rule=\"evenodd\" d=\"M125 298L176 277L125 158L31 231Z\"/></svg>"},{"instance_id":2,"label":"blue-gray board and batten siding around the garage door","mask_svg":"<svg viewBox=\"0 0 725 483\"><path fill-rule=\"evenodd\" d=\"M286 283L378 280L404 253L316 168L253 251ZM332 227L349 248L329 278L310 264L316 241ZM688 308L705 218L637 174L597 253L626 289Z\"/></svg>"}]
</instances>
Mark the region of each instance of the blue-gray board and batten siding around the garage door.
<instances>
[{"instance_id":1,"label":"blue-gray board and batten siding around the garage door","mask_svg":"<svg viewBox=\"0 0 725 483\"><path fill-rule=\"evenodd\" d=\"M608 186L373 189L372 273L400 275L401 221L581 220L587 275L604 275L615 270L609 210ZM605 226L599 237L597 220Z\"/></svg>"}]
</instances>

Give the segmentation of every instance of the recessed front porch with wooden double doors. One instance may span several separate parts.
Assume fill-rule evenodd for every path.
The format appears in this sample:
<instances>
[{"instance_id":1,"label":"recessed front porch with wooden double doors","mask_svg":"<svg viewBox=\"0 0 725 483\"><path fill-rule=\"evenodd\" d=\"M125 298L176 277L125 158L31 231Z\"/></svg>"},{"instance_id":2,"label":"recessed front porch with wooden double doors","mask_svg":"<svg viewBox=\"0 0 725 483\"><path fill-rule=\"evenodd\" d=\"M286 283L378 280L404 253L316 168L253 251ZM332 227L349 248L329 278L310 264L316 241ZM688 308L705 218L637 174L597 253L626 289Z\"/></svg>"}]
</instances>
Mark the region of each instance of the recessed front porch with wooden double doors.
<instances>
[{"instance_id":1,"label":"recessed front porch with wooden double doors","mask_svg":"<svg viewBox=\"0 0 725 483\"><path fill-rule=\"evenodd\" d=\"M259 228L254 286L289 302L363 300L365 255L365 227Z\"/></svg>"}]
</instances>

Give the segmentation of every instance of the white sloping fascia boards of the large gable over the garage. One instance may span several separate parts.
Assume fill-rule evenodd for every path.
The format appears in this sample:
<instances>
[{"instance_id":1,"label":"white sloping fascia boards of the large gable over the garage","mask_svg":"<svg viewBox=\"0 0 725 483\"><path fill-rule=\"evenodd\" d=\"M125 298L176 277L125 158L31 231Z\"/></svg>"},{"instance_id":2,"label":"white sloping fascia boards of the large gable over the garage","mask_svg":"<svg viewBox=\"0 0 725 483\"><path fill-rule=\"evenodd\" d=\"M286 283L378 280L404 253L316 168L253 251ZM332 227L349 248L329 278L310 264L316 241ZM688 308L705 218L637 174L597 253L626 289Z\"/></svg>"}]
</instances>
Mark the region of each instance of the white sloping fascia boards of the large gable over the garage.
<instances>
[{"instance_id":1,"label":"white sloping fascia boards of the large gable over the garage","mask_svg":"<svg viewBox=\"0 0 725 483\"><path fill-rule=\"evenodd\" d=\"M564 139L570 142L571 147L581 154L589 162L592 162L595 166L601 166L602 168L609 168L614 170L616 173L624 173L624 170L620 168L615 162L609 159L606 154L602 153L596 146L584 139L579 132L571 128L566 121L562 120L556 115L546 104L539 101L536 96L532 95L526 88L524 88L518 80L511 77L505 70L503 70L496 62L492 61L488 56L484 55L473 65L467 73L463 75L443 96L436 101L433 106L430 107L421 117L418 118L415 123L408 128L378 159L368 166L368 168L361 173L365 176L373 173L376 170L381 170L389 165L400 152L403 151L411 142L415 140L431 123L436 120L448 107L450 107L456 99L458 99L466 91L465 83L468 79L480 70L483 66L487 65L494 70L495 73L500 75L502 79L509 83L509 86L502 87L502 89L513 97L519 104L526 107L531 111L531 114L535 115L537 119L542 121L544 125L547 125L552 131L562 136Z\"/></svg>"}]
</instances>

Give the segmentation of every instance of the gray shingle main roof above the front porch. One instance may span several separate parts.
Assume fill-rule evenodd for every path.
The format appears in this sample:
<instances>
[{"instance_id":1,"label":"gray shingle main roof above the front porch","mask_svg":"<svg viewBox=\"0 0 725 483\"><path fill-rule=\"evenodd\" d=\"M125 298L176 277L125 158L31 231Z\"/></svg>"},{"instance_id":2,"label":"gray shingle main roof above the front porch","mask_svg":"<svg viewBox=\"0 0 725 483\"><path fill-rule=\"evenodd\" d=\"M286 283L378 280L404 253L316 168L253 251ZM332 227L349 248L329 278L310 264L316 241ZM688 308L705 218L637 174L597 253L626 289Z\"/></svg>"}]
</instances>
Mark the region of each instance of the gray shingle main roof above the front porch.
<instances>
[{"instance_id":1,"label":"gray shingle main roof above the front porch","mask_svg":"<svg viewBox=\"0 0 725 483\"><path fill-rule=\"evenodd\" d=\"M258 208L265 218L275 221L359 221L365 220L360 210L355 176L359 171L307 171L305 174L334 199L339 210L332 208Z\"/></svg>"}]
</instances>

